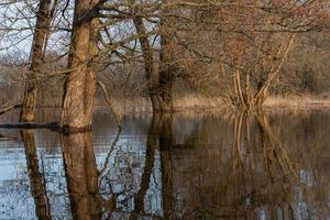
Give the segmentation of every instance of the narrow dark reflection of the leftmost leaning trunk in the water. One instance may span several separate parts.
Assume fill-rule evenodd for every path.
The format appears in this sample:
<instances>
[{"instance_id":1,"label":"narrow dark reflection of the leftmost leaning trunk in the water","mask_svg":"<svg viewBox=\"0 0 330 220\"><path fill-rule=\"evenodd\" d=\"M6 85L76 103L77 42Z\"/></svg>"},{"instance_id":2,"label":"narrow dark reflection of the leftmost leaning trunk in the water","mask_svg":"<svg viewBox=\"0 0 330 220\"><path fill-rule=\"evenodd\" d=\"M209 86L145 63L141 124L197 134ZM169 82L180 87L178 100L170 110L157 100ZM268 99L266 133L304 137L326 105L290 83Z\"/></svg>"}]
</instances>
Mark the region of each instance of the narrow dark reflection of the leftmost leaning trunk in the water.
<instances>
[{"instance_id":1,"label":"narrow dark reflection of the leftmost leaning trunk in the water","mask_svg":"<svg viewBox=\"0 0 330 220\"><path fill-rule=\"evenodd\" d=\"M43 182L42 174L38 172L34 131L21 131L21 136L25 147L26 166L29 170L31 194L35 204L35 215L37 219L52 219L45 183Z\"/></svg>"}]
</instances>

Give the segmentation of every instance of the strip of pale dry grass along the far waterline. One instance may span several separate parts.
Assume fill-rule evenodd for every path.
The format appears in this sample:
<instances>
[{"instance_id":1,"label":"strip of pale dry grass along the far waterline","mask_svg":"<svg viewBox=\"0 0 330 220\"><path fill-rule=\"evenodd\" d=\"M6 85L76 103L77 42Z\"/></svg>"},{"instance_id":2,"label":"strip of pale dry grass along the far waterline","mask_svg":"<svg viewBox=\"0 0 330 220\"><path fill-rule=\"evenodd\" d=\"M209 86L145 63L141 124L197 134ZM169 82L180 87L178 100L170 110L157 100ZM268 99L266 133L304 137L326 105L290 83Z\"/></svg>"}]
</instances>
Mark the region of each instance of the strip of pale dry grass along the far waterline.
<instances>
[{"instance_id":1,"label":"strip of pale dry grass along the far waterline","mask_svg":"<svg viewBox=\"0 0 330 220\"><path fill-rule=\"evenodd\" d=\"M152 113L152 106L148 98L129 97L111 98L113 110L119 116ZM222 111L231 106L227 105L221 98L209 98L200 95L186 95L174 99L176 111ZM99 102L97 109L107 111L107 105ZM330 97L270 97L265 105L265 110L270 109L316 109L330 108Z\"/></svg>"}]
</instances>

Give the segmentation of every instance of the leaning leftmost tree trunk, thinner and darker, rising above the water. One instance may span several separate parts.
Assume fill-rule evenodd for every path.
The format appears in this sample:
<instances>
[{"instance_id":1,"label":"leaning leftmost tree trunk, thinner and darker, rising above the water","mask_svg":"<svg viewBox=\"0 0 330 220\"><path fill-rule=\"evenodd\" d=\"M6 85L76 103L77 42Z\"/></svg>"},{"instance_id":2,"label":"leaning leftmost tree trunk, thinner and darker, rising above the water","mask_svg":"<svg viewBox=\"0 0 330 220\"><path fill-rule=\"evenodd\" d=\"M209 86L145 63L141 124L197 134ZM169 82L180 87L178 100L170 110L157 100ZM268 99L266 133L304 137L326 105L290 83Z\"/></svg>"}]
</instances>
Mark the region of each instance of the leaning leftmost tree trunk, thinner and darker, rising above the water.
<instances>
[{"instance_id":1,"label":"leaning leftmost tree trunk, thinner and darker, rising above the water","mask_svg":"<svg viewBox=\"0 0 330 220\"><path fill-rule=\"evenodd\" d=\"M50 18L51 4L52 0L40 1L34 40L31 50L30 73L26 76L23 107L20 116L21 122L34 121L37 92L37 74L41 73L41 66L44 58L43 48L52 22L52 18Z\"/></svg>"}]
</instances>

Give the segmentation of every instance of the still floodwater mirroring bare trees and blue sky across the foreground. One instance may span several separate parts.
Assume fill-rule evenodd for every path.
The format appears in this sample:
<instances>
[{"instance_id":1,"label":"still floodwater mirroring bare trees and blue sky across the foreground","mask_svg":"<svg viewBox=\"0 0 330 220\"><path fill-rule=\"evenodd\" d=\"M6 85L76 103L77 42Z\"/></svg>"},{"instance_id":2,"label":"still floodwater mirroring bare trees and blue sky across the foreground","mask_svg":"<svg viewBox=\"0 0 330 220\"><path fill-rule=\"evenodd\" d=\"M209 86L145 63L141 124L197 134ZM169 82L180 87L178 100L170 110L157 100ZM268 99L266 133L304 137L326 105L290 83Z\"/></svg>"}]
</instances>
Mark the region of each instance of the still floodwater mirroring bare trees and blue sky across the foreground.
<instances>
[{"instance_id":1,"label":"still floodwater mirroring bare trees and blue sky across the foreground","mask_svg":"<svg viewBox=\"0 0 330 220\"><path fill-rule=\"evenodd\" d=\"M98 113L92 133L0 129L0 219L330 219L329 122L142 116L118 133Z\"/></svg>"}]
</instances>

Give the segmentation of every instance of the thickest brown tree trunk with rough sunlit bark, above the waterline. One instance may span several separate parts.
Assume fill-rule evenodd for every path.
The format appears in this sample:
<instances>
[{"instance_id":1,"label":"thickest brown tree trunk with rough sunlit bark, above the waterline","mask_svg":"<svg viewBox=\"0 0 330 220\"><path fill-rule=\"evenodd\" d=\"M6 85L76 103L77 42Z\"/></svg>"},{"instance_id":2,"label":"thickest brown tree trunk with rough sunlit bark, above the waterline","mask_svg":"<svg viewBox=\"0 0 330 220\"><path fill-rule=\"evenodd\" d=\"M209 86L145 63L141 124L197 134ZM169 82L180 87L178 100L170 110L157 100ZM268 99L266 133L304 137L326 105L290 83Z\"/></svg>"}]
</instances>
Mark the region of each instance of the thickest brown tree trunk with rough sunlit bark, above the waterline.
<instances>
[{"instance_id":1,"label":"thickest brown tree trunk with rough sunlit bark, above the waterline","mask_svg":"<svg viewBox=\"0 0 330 220\"><path fill-rule=\"evenodd\" d=\"M99 0L76 0L74 29L61 125L65 132L90 130L97 74L89 64L97 54L98 21L85 20Z\"/></svg>"}]
</instances>

